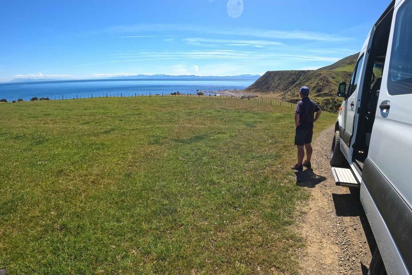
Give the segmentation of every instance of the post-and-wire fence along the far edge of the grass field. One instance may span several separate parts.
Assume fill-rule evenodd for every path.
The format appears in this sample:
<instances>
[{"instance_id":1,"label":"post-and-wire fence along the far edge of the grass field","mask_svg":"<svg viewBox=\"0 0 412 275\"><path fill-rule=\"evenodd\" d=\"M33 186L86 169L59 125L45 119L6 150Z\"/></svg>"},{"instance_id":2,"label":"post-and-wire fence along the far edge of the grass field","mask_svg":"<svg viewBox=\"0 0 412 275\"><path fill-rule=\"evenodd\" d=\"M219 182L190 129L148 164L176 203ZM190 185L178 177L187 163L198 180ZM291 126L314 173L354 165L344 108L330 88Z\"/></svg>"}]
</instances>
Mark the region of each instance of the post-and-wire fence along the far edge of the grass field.
<instances>
[{"instance_id":1,"label":"post-and-wire fence along the far edge of the grass field","mask_svg":"<svg viewBox=\"0 0 412 275\"><path fill-rule=\"evenodd\" d=\"M36 102L43 100L72 100L72 99L86 99L86 98L109 98L109 97L199 97L199 98L230 98L230 99L243 99L250 100L254 102L266 103L276 106L284 106L289 108L294 108L296 104L278 99L273 97L257 96L257 95L222 95L222 94L195 94L195 93L181 93L181 92L172 92L172 93L90 93L90 94L61 94L47 97L16 97L12 101L7 101L1 99L0 102L13 102L20 103L24 101Z\"/></svg>"}]
</instances>

